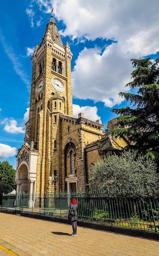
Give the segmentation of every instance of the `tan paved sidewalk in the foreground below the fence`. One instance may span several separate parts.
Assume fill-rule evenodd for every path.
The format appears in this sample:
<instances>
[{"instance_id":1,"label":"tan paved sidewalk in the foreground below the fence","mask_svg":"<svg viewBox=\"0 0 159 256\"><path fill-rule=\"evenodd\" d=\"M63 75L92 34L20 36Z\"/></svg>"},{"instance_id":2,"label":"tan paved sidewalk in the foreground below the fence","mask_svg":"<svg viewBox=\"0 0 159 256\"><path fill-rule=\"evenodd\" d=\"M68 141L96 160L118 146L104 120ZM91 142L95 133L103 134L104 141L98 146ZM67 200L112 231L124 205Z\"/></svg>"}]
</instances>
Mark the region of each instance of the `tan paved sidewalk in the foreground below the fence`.
<instances>
[{"instance_id":1,"label":"tan paved sidewalk in the foreground below the fence","mask_svg":"<svg viewBox=\"0 0 159 256\"><path fill-rule=\"evenodd\" d=\"M18 256L159 256L157 241L83 227L77 233L70 236L71 225L0 213L0 245Z\"/></svg>"}]
</instances>

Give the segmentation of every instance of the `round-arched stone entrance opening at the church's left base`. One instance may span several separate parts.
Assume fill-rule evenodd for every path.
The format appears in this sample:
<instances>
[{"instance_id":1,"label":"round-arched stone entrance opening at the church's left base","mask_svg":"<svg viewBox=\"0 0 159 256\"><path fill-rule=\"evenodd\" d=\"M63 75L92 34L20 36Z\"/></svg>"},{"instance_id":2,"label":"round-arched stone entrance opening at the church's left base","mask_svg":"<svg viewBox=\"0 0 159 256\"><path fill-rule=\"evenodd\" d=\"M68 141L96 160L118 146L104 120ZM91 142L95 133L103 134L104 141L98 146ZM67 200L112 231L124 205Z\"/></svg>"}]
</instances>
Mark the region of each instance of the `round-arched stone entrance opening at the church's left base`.
<instances>
[{"instance_id":1,"label":"round-arched stone entrance opening at the church's left base","mask_svg":"<svg viewBox=\"0 0 159 256\"><path fill-rule=\"evenodd\" d=\"M21 163L16 173L17 193L29 193L28 168L25 163Z\"/></svg>"}]
</instances>

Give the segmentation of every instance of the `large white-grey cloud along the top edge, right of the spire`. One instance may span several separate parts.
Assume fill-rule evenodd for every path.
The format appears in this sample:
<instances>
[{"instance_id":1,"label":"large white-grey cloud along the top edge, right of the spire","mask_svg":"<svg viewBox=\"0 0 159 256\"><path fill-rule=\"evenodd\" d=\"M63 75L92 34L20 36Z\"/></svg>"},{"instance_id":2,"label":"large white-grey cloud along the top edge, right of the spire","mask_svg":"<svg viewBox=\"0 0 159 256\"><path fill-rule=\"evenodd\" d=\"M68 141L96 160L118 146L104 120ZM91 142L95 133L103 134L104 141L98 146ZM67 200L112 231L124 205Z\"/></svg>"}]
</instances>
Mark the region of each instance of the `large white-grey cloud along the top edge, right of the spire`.
<instances>
[{"instance_id":1,"label":"large white-grey cloud along the top edge, right of the spire","mask_svg":"<svg viewBox=\"0 0 159 256\"><path fill-rule=\"evenodd\" d=\"M45 1L48 2L48 1ZM54 13L63 20L64 35L89 40L130 38L158 27L158 1L145 0L52 0ZM70 13L71 9L71 13ZM70 13L70 15L68 15ZM151 35L148 36L151 38ZM157 46L156 42L156 46Z\"/></svg>"}]
</instances>

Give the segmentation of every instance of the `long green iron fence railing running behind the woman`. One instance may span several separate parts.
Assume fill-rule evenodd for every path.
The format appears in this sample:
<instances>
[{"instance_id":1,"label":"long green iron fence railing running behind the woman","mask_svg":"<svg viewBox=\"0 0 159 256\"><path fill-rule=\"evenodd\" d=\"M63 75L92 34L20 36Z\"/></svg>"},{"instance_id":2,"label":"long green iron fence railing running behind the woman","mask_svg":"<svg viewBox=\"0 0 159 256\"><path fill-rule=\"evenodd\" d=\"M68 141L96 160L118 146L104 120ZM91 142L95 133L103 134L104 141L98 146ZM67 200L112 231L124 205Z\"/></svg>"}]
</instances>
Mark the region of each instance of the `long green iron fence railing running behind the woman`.
<instances>
[{"instance_id":1,"label":"long green iron fence railing running behind the woman","mask_svg":"<svg viewBox=\"0 0 159 256\"><path fill-rule=\"evenodd\" d=\"M68 205L73 196L78 201L78 219L87 222L100 222L105 225L143 229L159 232L159 194L144 195L135 193L110 194L79 192L76 194L55 193L28 195L4 195L2 208L16 208L25 211L58 218L67 218Z\"/></svg>"}]
</instances>

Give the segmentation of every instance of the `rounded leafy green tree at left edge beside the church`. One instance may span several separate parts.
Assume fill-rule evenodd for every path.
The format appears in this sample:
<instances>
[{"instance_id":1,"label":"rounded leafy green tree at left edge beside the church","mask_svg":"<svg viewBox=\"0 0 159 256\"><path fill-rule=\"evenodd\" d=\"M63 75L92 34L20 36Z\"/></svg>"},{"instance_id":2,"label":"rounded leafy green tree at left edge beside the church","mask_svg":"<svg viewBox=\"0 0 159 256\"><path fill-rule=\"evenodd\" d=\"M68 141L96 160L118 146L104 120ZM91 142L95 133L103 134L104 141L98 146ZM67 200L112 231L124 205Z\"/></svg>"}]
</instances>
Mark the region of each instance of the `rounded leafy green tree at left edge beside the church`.
<instances>
[{"instance_id":1,"label":"rounded leafy green tree at left edge beside the church","mask_svg":"<svg viewBox=\"0 0 159 256\"><path fill-rule=\"evenodd\" d=\"M0 194L10 193L16 188L15 182L16 170L9 162L0 162Z\"/></svg>"}]
</instances>

